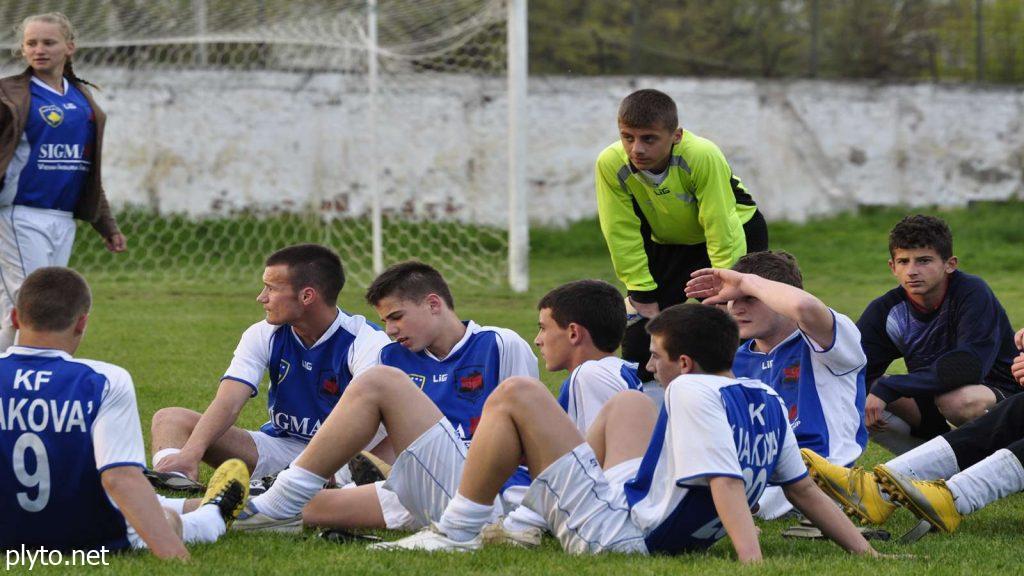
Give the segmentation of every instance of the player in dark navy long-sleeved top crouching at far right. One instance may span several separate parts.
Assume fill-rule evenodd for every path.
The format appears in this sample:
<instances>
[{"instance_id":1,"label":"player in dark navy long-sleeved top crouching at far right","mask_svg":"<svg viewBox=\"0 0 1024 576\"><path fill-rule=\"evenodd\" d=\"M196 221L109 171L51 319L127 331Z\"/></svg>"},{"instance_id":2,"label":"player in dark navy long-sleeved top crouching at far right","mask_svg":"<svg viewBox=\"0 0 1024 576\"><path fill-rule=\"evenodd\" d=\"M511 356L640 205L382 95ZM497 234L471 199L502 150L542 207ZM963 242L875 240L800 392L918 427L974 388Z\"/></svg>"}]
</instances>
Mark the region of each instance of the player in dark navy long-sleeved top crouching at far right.
<instances>
[{"instance_id":1,"label":"player in dark navy long-sleeved top crouching at far right","mask_svg":"<svg viewBox=\"0 0 1024 576\"><path fill-rule=\"evenodd\" d=\"M991 288L958 270L952 234L933 216L907 216L889 234L899 286L860 317L867 355L864 420L900 454L1021 392L1010 372L1013 329ZM906 374L885 375L902 358Z\"/></svg>"}]
</instances>

